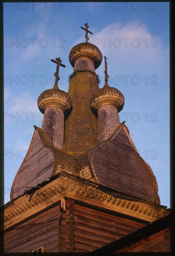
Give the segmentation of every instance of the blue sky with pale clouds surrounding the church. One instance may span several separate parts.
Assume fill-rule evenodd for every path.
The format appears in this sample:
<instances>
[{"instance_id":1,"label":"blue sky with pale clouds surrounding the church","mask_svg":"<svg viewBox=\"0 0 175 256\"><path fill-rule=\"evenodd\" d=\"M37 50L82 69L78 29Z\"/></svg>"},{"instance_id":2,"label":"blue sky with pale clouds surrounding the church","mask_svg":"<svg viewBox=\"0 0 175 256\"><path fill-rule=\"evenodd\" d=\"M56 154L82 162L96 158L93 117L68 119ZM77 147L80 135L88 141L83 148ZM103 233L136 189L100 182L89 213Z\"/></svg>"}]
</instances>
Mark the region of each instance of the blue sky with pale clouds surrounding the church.
<instances>
[{"instance_id":1,"label":"blue sky with pale clouds surrounding the church","mask_svg":"<svg viewBox=\"0 0 175 256\"><path fill-rule=\"evenodd\" d=\"M71 48L90 42L108 58L110 85L125 97L120 121L158 182L161 204L169 192L169 3L87 2L4 4L5 202L32 139L41 127L39 94L53 87L60 57L59 88L68 90ZM97 69L104 84L104 62ZM133 184L134 185L134 184Z\"/></svg>"}]
</instances>

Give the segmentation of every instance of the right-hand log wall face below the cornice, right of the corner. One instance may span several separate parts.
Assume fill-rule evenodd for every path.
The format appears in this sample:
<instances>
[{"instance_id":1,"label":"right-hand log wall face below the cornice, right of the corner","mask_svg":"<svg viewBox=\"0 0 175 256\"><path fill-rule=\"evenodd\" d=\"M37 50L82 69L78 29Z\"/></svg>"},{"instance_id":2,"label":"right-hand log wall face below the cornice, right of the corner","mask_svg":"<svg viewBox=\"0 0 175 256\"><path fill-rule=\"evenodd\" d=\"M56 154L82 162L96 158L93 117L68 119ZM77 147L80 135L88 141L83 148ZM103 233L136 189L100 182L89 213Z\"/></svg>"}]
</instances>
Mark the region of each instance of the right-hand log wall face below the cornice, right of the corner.
<instances>
[{"instance_id":1,"label":"right-hand log wall face below the cornice, right of the corner","mask_svg":"<svg viewBox=\"0 0 175 256\"><path fill-rule=\"evenodd\" d=\"M143 226L143 223L75 204L75 251L90 252Z\"/></svg>"}]
</instances>

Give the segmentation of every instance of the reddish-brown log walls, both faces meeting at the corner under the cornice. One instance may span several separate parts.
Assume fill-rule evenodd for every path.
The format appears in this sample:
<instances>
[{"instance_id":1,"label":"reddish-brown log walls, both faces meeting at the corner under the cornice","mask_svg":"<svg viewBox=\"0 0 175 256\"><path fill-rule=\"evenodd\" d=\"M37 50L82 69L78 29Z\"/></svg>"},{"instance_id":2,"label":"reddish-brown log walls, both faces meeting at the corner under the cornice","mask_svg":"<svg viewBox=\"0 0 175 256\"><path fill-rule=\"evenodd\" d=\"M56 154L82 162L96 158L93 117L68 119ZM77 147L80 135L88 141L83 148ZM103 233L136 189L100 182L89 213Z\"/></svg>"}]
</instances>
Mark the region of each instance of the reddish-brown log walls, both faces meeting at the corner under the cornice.
<instances>
[{"instance_id":1,"label":"reddish-brown log walls, both faces meeting at the corner under the cornice","mask_svg":"<svg viewBox=\"0 0 175 256\"><path fill-rule=\"evenodd\" d=\"M6 231L5 252L32 252L42 246L44 252L91 252L146 225L64 200L65 206L61 201Z\"/></svg>"}]
</instances>

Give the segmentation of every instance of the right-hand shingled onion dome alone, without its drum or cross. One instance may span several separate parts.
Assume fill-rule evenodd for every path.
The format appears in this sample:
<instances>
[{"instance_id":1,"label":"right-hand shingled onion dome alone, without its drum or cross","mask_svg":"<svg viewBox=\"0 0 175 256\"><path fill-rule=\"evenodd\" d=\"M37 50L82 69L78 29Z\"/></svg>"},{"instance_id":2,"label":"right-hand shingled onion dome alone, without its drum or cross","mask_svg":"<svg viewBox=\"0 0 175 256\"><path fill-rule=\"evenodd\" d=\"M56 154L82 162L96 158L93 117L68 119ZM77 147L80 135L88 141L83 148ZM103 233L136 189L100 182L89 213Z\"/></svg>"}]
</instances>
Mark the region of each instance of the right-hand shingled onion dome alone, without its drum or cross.
<instances>
[{"instance_id":1,"label":"right-hand shingled onion dome alone, without its drum or cross","mask_svg":"<svg viewBox=\"0 0 175 256\"><path fill-rule=\"evenodd\" d=\"M116 88L105 85L92 96L91 108L97 114L98 108L105 104L116 106L118 112L120 112L124 106L124 96Z\"/></svg>"}]
</instances>

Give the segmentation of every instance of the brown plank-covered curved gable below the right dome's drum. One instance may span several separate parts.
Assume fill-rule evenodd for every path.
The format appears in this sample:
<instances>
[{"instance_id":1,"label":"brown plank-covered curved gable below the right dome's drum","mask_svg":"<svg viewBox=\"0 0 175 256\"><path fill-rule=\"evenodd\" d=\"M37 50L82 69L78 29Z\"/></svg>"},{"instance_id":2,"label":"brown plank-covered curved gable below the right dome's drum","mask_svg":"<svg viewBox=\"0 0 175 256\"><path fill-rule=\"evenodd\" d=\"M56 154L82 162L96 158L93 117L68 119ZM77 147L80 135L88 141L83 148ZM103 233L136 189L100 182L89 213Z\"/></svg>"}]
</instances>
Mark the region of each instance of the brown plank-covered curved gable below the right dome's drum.
<instances>
[{"instance_id":1,"label":"brown plank-covered curved gable below the right dome's drum","mask_svg":"<svg viewBox=\"0 0 175 256\"><path fill-rule=\"evenodd\" d=\"M123 125L109 141L92 150L91 164L100 184L155 202L157 183L151 169L136 153Z\"/></svg>"}]
</instances>

